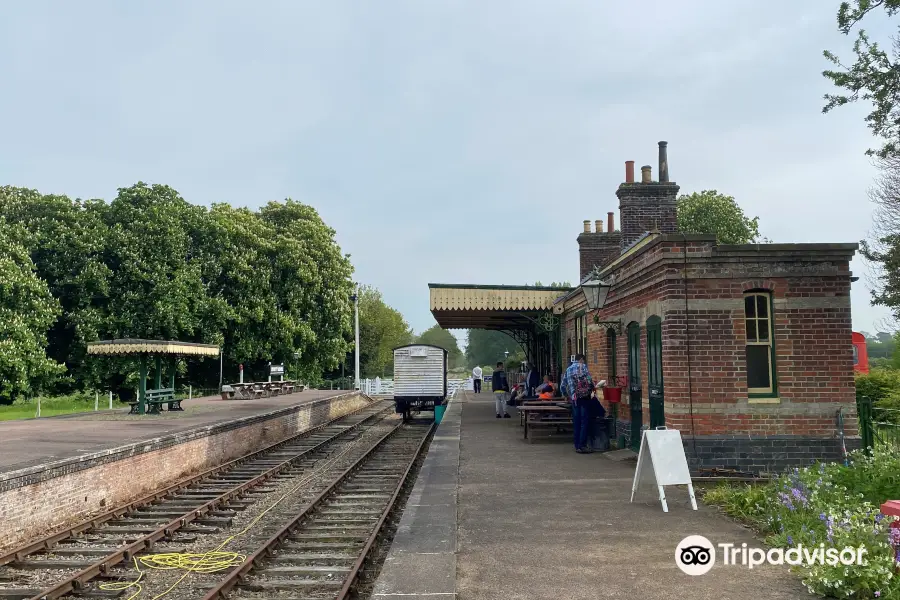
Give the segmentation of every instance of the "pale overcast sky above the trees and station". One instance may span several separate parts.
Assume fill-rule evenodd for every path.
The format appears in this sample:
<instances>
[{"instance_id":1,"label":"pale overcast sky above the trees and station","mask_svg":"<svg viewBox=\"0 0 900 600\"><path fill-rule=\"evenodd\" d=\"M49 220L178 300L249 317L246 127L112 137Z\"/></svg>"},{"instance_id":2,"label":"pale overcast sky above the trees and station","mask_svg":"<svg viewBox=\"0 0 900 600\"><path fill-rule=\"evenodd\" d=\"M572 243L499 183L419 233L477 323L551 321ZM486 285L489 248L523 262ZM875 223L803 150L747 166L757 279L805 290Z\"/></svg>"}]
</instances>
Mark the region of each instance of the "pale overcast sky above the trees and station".
<instances>
[{"instance_id":1,"label":"pale overcast sky above the trees and station","mask_svg":"<svg viewBox=\"0 0 900 600\"><path fill-rule=\"evenodd\" d=\"M301 200L417 331L429 282L577 279L582 220L659 140L773 241L856 242L875 142L865 106L821 114L838 4L4 2L0 184ZM863 277L854 328L886 315Z\"/></svg>"}]
</instances>

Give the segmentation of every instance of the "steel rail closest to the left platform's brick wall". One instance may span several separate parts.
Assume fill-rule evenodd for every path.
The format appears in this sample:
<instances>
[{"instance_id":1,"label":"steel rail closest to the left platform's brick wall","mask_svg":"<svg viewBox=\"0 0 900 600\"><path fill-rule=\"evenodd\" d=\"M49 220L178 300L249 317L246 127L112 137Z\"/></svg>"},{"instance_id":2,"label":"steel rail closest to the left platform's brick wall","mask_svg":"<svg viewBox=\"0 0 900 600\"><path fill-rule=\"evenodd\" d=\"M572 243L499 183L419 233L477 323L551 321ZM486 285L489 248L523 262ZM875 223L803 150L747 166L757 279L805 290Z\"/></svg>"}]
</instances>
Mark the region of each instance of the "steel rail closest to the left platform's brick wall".
<instances>
[{"instance_id":1,"label":"steel rail closest to the left platform's brick wall","mask_svg":"<svg viewBox=\"0 0 900 600\"><path fill-rule=\"evenodd\" d=\"M76 537L76 536L78 536L78 534L80 534L84 531L87 531L89 529L95 529L99 525L102 525L103 523L106 523L107 521L111 521L113 519L119 519L125 515L134 513L136 511L140 510L141 508L144 508L146 506L153 504L154 502L156 502L158 500L162 500L168 496L171 496L175 492L179 492L185 488L188 488L191 485L197 483L198 481L200 481L202 479L211 477L213 475L218 475L219 473L221 473L223 471L227 471L234 467L240 466L247 461L259 458L260 456L262 456L264 454L267 454L269 452L277 450L278 448L297 440L298 438L308 436L309 434L316 433L321 429L324 429L326 427L334 425L337 421L340 421L341 419L355 416L355 415L359 414L360 412L365 411L366 409L372 408L372 406L375 404L377 404L377 403L373 402L372 404L363 406L362 408L359 408L359 409L353 411L352 413L347 413L346 415L334 418L331 421L322 423L321 425L316 425L314 428L304 431L303 433L292 435L283 440L275 442L274 444L266 446L265 448L256 450L254 452L251 452L250 454L245 454L245 455L235 458L234 460L231 460L227 463L223 463L217 467L213 467L211 469L203 471L202 473L199 473L197 475L192 475L191 477L182 479L176 483L173 483L172 485L158 489L155 492L148 494L146 496L143 496L141 498L138 498L137 500L129 502L128 504L124 504L124 505L118 506L116 508L110 509L110 510L106 511L105 513L102 513L96 517L92 517L90 519L85 519L84 521L80 522L79 524L77 524L73 527L69 527L63 531L47 535L37 541L28 542L27 544L24 544L22 546L14 548L13 550L6 552L5 554L0 554L0 567L7 565L9 563L12 563L12 562L22 561L25 559L25 557L29 556L30 554L34 554L35 552L49 551L53 547L55 547L59 542L61 542L63 540L66 540L71 537ZM387 408L385 408L385 410L387 410ZM371 417L368 417L367 419L361 421L359 424L364 423L368 419L374 418L377 414L378 413L376 413L375 415L372 415ZM348 429L347 431L350 431L350 429Z\"/></svg>"}]
</instances>

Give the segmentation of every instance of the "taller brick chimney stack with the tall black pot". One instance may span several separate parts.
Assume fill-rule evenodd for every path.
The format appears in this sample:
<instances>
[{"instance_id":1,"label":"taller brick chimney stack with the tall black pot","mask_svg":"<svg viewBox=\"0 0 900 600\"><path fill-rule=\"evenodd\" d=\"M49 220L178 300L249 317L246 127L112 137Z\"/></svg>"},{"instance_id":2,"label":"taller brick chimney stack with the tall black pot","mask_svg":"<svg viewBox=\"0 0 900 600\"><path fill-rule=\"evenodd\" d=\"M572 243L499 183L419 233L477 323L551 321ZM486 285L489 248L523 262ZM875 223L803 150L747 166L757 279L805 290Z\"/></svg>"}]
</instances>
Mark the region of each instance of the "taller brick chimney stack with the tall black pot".
<instances>
[{"instance_id":1,"label":"taller brick chimney stack with the tall black pot","mask_svg":"<svg viewBox=\"0 0 900 600\"><path fill-rule=\"evenodd\" d=\"M627 180L619 185L619 216L622 219L621 251L649 231L676 233L678 185L669 181L668 142L659 142L659 181L652 180L650 166L641 167L639 183ZM627 170L627 167L626 167Z\"/></svg>"}]
</instances>

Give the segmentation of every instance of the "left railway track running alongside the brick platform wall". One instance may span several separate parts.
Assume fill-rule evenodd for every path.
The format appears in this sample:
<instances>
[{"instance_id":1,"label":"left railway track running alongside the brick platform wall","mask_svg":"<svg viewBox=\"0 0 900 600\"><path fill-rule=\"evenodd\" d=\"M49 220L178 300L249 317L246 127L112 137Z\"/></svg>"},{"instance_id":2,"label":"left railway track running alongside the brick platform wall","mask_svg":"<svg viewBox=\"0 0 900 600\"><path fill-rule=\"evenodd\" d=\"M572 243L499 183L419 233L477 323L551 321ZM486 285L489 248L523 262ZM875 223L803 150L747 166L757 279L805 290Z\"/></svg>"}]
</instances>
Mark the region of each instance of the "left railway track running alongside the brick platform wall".
<instances>
[{"instance_id":1,"label":"left railway track running alongside the brick platform wall","mask_svg":"<svg viewBox=\"0 0 900 600\"><path fill-rule=\"evenodd\" d=\"M0 600L118 597L122 589L102 584L121 579L123 567L136 556L166 544L195 543L227 528L280 482L315 470L319 462L330 464L330 456L390 409L389 402L373 403L0 555Z\"/></svg>"}]
</instances>

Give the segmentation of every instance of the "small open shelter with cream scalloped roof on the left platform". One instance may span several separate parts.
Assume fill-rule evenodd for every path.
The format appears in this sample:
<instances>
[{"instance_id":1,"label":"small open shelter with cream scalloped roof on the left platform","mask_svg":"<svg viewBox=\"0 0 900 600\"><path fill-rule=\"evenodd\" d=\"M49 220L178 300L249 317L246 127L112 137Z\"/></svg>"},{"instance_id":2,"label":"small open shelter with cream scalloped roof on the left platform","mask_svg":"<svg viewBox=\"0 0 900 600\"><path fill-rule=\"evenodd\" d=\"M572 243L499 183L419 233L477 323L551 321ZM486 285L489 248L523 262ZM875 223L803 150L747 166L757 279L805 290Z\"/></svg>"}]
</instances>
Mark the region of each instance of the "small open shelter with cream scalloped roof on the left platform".
<instances>
[{"instance_id":1,"label":"small open shelter with cream scalloped roof on the left platform","mask_svg":"<svg viewBox=\"0 0 900 600\"><path fill-rule=\"evenodd\" d=\"M179 357L213 357L221 360L219 346L215 344L195 344L192 342L176 342L164 340L121 339L89 342L87 353L94 356L136 356L140 360L140 381L138 384L137 414L147 413L147 362L155 359L154 370L155 391L171 390L175 392L176 361ZM169 373L169 388L162 389L163 358L166 359Z\"/></svg>"}]
</instances>

